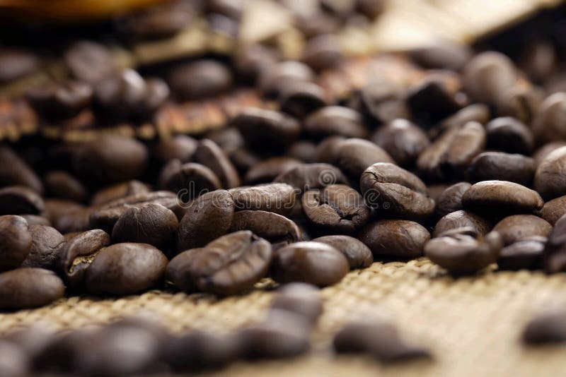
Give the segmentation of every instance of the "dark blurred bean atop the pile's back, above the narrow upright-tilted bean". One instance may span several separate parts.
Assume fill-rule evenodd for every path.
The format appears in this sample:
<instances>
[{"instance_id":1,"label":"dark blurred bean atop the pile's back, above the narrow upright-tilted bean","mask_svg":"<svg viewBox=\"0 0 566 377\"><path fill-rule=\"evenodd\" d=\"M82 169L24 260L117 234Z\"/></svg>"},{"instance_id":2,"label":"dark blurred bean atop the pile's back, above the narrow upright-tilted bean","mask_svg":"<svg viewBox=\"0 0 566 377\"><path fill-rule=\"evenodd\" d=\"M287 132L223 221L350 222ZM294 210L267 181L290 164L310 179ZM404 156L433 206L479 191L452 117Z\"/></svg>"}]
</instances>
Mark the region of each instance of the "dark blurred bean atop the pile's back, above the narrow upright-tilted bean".
<instances>
[{"instance_id":1,"label":"dark blurred bean atop the pile's back, above the narrow upright-tilted bean","mask_svg":"<svg viewBox=\"0 0 566 377\"><path fill-rule=\"evenodd\" d=\"M246 107L231 121L259 150L282 149L293 143L301 133L301 125L291 116L272 110Z\"/></svg>"}]
</instances>

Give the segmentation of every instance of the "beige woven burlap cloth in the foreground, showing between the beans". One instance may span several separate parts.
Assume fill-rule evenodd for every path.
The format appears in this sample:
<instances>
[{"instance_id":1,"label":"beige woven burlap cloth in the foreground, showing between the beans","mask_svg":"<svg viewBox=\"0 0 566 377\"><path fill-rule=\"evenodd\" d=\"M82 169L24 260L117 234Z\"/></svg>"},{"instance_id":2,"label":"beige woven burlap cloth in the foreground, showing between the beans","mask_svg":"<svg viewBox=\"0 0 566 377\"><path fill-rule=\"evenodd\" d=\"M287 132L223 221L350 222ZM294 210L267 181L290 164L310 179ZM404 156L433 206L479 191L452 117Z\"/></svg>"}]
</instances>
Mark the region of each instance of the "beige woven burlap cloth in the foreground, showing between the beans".
<instances>
[{"instance_id":1,"label":"beige woven burlap cloth in the foreground, showing between the beans","mask_svg":"<svg viewBox=\"0 0 566 377\"><path fill-rule=\"evenodd\" d=\"M34 323L79 328L139 311L151 311L173 332L194 328L225 332L265 315L274 292L264 282L253 292L216 299L205 294L148 292L121 299L70 298L41 309L0 314L0 332ZM313 350L284 361L236 363L213 376L565 376L566 347L527 348L526 321L566 302L566 275L487 272L454 279L425 258L374 263L322 291L325 312L313 333ZM333 333L360 311L382 311L404 337L429 347L433 361L383 366L364 357L335 357Z\"/></svg>"}]
</instances>

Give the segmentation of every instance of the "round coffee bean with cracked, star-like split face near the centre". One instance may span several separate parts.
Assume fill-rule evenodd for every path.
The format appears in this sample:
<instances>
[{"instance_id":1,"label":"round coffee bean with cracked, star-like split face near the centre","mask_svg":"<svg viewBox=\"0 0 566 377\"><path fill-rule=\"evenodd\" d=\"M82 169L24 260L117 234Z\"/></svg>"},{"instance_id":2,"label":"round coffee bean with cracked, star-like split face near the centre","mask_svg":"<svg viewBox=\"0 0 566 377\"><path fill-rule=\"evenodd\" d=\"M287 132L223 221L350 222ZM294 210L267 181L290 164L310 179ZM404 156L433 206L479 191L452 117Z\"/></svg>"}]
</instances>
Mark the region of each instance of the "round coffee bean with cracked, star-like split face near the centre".
<instances>
[{"instance_id":1,"label":"round coffee bean with cracked, star-like split face near the centre","mask_svg":"<svg viewBox=\"0 0 566 377\"><path fill-rule=\"evenodd\" d=\"M324 233L354 234L369 219L364 198L343 184L306 191L301 203L311 225Z\"/></svg>"}]
</instances>

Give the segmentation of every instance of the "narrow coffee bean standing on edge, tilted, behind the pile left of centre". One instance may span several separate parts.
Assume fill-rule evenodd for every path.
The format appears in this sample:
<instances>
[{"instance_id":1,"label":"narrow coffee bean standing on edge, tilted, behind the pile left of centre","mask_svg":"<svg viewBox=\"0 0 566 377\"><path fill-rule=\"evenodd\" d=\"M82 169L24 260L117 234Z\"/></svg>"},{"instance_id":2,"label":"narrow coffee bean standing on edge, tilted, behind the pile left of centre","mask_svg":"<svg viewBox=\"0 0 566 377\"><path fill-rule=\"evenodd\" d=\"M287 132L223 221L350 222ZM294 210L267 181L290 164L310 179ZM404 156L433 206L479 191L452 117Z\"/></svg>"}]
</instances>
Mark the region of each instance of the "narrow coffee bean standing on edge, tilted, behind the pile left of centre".
<instances>
[{"instance_id":1,"label":"narrow coffee bean standing on edge, tilted, behind the pile left of centre","mask_svg":"<svg viewBox=\"0 0 566 377\"><path fill-rule=\"evenodd\" d=\"M222 188L240 186L240 176L229 158L212 140L201 140L195 152L195 162L199 162L216 174Z\"/></svg>"}]
</instances>

